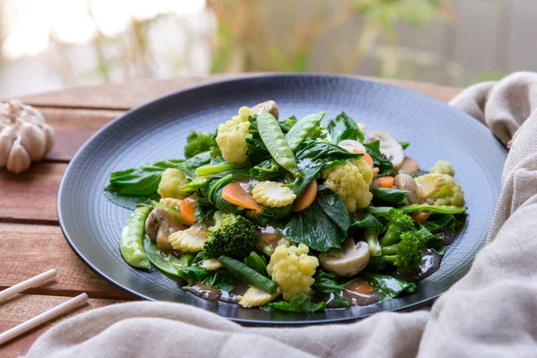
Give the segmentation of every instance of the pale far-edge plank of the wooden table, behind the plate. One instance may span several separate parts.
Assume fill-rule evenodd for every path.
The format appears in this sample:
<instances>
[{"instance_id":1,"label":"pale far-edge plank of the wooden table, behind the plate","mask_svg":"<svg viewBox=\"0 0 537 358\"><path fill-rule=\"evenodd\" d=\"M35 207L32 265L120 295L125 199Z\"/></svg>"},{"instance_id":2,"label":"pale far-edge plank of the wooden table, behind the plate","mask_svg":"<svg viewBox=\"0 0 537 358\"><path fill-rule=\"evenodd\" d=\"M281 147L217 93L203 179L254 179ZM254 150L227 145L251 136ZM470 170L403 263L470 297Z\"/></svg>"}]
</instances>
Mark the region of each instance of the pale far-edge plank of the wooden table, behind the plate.
<instances>
[{"instance_id":1,"label":"pale far-edge plank of the wooden table, behind the plate","mask_svg":"<svg viewBox=\"0 0 537 358\"><path fill-rule=\"evenodd\" d=\"M132 107L141 106L149 100L165 96L166 94L178 90L184 90L192 86L199 86L212 81L222 81L230 78L240 78L252 75L260 75L260 73L242 73L240 75L226 73L210 76L177 77L168 80L107 83L100 86L79 87L69 90L47 92L21 99L38 107L126 110ZM453 98L453 96L460 91L460 89L424 82L357 77L404 87L408 90L414 90L444 101Z\"/></svg>"}]
</instances>

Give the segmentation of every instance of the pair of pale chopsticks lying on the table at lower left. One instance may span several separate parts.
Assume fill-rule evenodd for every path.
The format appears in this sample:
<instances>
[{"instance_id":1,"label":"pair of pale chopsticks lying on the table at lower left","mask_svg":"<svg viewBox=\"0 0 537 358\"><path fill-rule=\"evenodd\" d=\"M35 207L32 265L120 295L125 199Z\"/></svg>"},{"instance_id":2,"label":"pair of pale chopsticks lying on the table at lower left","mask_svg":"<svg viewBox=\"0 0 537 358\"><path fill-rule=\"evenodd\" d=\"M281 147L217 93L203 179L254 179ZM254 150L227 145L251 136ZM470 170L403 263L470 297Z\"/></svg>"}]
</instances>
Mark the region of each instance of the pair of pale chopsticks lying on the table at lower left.
<instances>
[{"instance_id":1,"label":"pair of pale chopsticks lying on the table at lower left","mask_svg":"<svg viewBox=\"0 0 537 358\"><path fill-rule=\"evenodd\" d=\"M22 281L20 284L6 288L4 291L0 291L0 301L11 297L15 294L20 294L22 291L29 289L30 287L37 286L43 282L56 276L55 269L49 269L47 272L31 277L26 281ZM47 320L53 320L58 316L61 316L66 311L71 311L74 307L81 303L88 301L88 294L79 294L71 300L55 306L44 313L39 314L33 319L27 320L18 326L6 330L4 333L0 333L0 345L13 339L14 337L21 336L22 333L28 332L32 328L36 328L39 325L47 322Z\"/></svg>"}]
</instances>

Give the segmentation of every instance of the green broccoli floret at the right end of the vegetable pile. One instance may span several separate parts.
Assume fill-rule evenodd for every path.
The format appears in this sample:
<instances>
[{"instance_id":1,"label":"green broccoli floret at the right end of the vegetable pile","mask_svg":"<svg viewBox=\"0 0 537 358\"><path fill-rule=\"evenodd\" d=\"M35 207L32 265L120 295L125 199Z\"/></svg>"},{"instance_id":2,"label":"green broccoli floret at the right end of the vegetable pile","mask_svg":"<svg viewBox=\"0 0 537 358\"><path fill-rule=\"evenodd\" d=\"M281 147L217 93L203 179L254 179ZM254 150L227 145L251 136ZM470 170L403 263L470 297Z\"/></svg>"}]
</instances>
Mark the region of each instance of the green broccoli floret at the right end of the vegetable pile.
<instances>
[{"instance_id":1,"label":"green broccoli floret at the right end of the vegetable pile","mask_svg":"<svg viewBox=\"0 0 537 358\"><path fill-rule=\"evenodd\" d=\"M382 256L370 260L371 268L382 270L383 264L396 265L399 272L410 272L422 262L423 235L413 229L400 235L401 241L394 245L382 246Z\"/></svg>"}]
</instances>

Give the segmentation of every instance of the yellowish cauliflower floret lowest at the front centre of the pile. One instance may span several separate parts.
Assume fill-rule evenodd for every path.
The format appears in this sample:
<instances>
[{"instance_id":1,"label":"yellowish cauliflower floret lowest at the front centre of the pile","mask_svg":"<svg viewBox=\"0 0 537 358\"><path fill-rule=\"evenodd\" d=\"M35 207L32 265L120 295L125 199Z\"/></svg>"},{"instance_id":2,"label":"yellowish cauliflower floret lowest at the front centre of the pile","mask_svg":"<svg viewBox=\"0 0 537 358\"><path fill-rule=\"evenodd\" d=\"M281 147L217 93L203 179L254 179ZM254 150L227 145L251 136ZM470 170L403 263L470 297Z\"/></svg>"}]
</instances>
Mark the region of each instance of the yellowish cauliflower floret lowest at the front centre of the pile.
<instances>
[{"instance_id":1,"label":"yellowish cauliflower floret lowest at the front centre of the pile","mask_svg":"<svg viewBox=\"0 0 537 358\"><path fill-rule=\"evenodd\" d=\"M286 301L301 294L308 294L311 290L319 260L315 256L309 256L309 251L308 246L303 243L295 246L287 240L280 240L270 256L268 275L280 287Z\"/></svg>"}]
</instances>

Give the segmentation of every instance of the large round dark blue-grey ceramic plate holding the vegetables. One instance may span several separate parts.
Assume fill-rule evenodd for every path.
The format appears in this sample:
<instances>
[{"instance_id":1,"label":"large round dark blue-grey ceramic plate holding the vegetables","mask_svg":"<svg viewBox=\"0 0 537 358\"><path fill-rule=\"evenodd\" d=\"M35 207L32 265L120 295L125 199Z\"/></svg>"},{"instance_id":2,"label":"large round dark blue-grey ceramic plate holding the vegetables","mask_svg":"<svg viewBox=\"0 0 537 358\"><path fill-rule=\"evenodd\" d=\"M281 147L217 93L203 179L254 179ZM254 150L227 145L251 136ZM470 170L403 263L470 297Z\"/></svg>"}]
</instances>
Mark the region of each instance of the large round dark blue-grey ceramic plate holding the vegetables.
<instances>
[{"instance_id":1,"label":"large round dark blue-grey ceramic plate holding the vegetables","mask_svg":"<svg viewBox=\"0 0 537 358\"><path fill-rule=\"evenodd\" d=\"M129 210L103 195L110 172L167 158L183 158L192 129L213 132L239 107L274 99L280 115L301 117L341 111L367 125L410 141L408 156L423 168L446 159L465 191L468 220L448 247L442 266L408 294L386 303L320 313L246 310L204 301L184 292L174 279L153 268L128 266L119 251L119 234ZM60 225L72 250L100 276L148 300L187 303L231 320L260 324L305 324L354 320L378 311L409 309L433 300L465 275L482 247L500 191L506 150L475 119L409 90L328 75L273 75L223 81L184 90L133 109L95 134L72 159L58 196Z\"/></svg>"}]
</instances>

